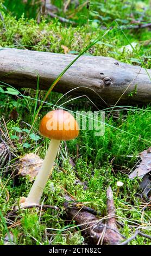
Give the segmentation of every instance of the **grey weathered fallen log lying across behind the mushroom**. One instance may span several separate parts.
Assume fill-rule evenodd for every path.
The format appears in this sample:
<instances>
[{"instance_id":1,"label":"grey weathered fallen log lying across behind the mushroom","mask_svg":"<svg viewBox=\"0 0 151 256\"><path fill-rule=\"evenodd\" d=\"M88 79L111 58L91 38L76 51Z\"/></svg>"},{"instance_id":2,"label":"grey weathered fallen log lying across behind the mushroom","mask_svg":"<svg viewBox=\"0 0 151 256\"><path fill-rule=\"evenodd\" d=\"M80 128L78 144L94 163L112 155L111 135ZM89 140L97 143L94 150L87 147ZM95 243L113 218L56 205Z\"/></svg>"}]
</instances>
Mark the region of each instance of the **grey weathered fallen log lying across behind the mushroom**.
<instances>
[{"instance_id":1,"label":"grey weathered fallen log lying across behind the mushroom","mask_svg":"<svg viewBox=\"0 0 151 256\"><path fill-rule=\"evenodd\" d=\"M71 54L3 48L0 51L0 81L17 88L36 88L39 76L40 89L47 90L74 58ZM97 92L107 104L114 104L130 84L120 103L148 103L151 101L149 76L151 70L121 63L114 58L82 56L62 76L54 90L66 93L80 87L72 94L87 95L91 100L103 104ZM129 93L135 88L136 95L130 97Z\"/></svg>"}]
</instances>

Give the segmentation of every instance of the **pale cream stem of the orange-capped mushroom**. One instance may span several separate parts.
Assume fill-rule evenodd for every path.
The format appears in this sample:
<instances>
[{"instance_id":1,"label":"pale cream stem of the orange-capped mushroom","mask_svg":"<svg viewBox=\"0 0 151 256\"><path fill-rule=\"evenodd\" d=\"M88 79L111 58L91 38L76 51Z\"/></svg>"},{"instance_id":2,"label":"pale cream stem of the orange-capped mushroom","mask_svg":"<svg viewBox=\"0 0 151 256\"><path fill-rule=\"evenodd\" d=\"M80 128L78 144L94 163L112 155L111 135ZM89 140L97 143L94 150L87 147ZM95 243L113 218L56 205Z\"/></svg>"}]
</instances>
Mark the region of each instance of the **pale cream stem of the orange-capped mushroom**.
<instances>
[{"instance_id":1,"label":"pale cream stem of the orange-capped mushroom","mask_svg":"<svg viewBox=\"0 0 151 256\"><path fill-rule=\"evenodd\" d=\"M43 160L42 167L36 176L34 184L26 199L26 204L40 204L43 190L46 186L47 180L53 168L56 154L58 153L60 141L52 139L49 144L45 159Z\"/></svg>"}]
</instances>

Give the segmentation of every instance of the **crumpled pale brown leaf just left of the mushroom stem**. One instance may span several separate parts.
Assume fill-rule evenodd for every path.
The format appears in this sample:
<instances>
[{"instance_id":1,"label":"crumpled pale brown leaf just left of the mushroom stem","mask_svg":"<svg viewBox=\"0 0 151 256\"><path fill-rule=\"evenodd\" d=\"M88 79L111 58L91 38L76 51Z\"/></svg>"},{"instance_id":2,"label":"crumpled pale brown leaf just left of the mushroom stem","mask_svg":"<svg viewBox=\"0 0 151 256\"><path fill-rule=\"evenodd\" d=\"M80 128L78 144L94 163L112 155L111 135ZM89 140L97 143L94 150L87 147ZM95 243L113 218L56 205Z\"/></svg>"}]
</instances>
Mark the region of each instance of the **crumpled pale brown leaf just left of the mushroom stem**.
<instances>
[{"instance_id":1,"label":"crumpled pale brown leaf just left of the mushroom stem","mask_svg":"<svg viewBox=\"0 0 151 256\"><path fill-rule=\"evenodd\" d=\"M22 176L29 175L30 181L33 181L39 172L43 160L36 154L30 153L23 156L17 166L18 174Z\"/></svg>"}]
</instances>

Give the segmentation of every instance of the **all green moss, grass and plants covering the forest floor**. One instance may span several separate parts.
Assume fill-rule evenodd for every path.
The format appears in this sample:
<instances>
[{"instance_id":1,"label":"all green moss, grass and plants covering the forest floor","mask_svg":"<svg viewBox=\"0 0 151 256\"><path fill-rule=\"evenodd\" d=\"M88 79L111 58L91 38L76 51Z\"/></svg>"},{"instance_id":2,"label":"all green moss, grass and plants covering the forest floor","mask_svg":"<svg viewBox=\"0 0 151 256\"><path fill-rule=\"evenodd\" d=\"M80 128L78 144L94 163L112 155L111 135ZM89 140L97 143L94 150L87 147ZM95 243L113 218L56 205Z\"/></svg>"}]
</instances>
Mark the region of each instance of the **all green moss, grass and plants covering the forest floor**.
<instances>
[{"instance_id":1,"label":"all green moss, grass and plants covering the forest floor","mask_svg":"<svg viewBox=\"0 0 151 256\"><path fill-rule=\"evenodd\" d=\"M66 13L63 11L63 1L52 1L58 7L58 16L67 17L75 22L74 25L61 23L49 16L41 17L40 23L37 23L38 7L34 5L28 11L31 1L27 1L27 5L21 4L20 8L17 2L6 0L0 5L3 17L0 19L1 47L64 53L63 45L68 48L68 53L78 54L110 26L109 33L85 54L114 57L125 63L151 68L151 31L148 28L136 29L136 24L132 23L138 23L141 19L143 23L150 21L147 0L91 1L88 8L86 5L81 7L85 1L79 1L81 8L72 3ZM124 48L133 43L136 46L130 51ZM137 93L137 88L129 96L133 98L134 93ZM130 180L127 174L137 163L137 155L150 147L150 106L101 108L105 112L104 136L95 137L93 131L81 131L77 139L67 142L67 149L65 143L61 145L57 164L42 196L45 204L58 206L60 210L39 212L36 209L22 209L14 218L6 217L18 198L27 196L32 186L28 178L17 175L16 162L28 153L43 158L48 147L49 140L39 135L39 122L62 95L49 94L30 131L44 95L45 92L38 90L38 86L37 90L17 91L11 84L0 83L0 122L5 135L2 138L14 154L7 174L4 175L6 166L1 168L0 244L4 244L5 236L13 234L17 245L83 245L84 238L75 223L66 222L62 206L64 190L86 206L101 212L99 218L102 218L106 214L106 188L109 185L114 192L119 231L125 237L134 234L136 228L142 228L144 233L149 234L151 216L149 208L143 208L147 199L140 197L141 179ZM88 99L66 102L69 99L72 99L71 96L62 97L57 106L64 104L63 107L73 112L97 111ZM70 164L70 157L75 163L74 168ZM76 179L85 182L87 190L80 184L75 186ZM117 181L124 183L118 195ZM137 236L129 244L147 245L149 240Z\"/></svg>"}]
</instances>

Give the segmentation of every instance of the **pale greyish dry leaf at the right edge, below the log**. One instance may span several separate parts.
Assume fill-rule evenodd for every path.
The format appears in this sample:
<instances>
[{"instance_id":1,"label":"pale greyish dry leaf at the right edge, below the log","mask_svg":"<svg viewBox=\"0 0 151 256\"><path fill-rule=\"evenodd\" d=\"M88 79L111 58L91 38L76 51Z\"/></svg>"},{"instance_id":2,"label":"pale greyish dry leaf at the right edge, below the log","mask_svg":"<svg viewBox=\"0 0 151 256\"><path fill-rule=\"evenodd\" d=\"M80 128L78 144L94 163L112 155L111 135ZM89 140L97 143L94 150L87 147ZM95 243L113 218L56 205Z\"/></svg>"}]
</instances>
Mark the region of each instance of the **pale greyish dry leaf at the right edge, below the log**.
<instances>
[{"instance_id":1,"label":"pale greyish dry leaf at the right edge, below the log","mask_svg":"<svg viewBox=\"0 0 151 256\"><path fill-rule=\"evenodd\" d=\"M139 164L139 167L129 175L130 179L134 179L135 177L143 178L143 176L151 170L151 147L142 151L139 155L142 161Z\"/></svg>"}]
</instances>

